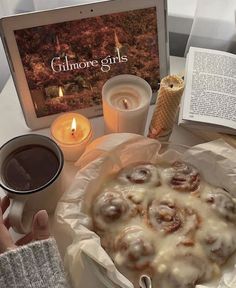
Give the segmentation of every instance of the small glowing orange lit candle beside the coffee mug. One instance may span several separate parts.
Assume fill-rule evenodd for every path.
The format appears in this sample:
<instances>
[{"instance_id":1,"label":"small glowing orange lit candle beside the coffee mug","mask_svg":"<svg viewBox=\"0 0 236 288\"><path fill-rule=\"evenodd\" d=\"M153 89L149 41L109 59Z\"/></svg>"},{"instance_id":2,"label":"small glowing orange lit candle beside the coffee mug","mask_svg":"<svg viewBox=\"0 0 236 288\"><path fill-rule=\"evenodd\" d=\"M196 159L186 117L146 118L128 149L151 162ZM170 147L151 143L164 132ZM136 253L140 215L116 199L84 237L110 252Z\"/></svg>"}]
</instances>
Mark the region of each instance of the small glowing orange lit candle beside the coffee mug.
<instances>
[{"instance_id":1,"label":"small glowing orange lit candle beside the coffee mug","mask_svg":"<svg viewBox=\"0 0 236 288\"><path fill-rule=\"evenodd\" d=\"M76 161L92 137L90 121L79 113L65 113L51 126L53 139L60 146L65 160Z\"/></svg>"}]
</instances>

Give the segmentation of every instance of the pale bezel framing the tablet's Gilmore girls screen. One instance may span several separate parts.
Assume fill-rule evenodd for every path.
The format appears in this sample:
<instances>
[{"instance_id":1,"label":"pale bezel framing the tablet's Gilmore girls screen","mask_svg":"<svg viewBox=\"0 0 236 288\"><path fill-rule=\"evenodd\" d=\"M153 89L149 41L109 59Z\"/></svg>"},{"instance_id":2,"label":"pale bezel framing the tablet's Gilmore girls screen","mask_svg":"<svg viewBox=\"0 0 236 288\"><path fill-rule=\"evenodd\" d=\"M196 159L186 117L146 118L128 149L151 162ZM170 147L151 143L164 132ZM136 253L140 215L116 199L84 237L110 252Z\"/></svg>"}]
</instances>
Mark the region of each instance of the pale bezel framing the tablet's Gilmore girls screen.
<instances>
[{"instance_id":1,"label":"pale bezel framing the tablet's Gilmore girls screen","mask_svg":"<svg viewBox=\"0 0 236 288\"><path fill-rule=\"evenodd\" d=\"M156 7L157 11L160 78L162 78L169 72L166 0L105 0L102 2L2 18L0 25L1 36L27 126L33 130L48 127L52 121L58 117L59 113L40 118L36 116L34 104L31 98L31 93L14 35L15 30L149 7ZM86 109L82 110L77 111L87 117L99 116L90 114L89 109L87 109L87 111ZM101 112L100 115L102 114Z\"/></svg>"}]
</instances>

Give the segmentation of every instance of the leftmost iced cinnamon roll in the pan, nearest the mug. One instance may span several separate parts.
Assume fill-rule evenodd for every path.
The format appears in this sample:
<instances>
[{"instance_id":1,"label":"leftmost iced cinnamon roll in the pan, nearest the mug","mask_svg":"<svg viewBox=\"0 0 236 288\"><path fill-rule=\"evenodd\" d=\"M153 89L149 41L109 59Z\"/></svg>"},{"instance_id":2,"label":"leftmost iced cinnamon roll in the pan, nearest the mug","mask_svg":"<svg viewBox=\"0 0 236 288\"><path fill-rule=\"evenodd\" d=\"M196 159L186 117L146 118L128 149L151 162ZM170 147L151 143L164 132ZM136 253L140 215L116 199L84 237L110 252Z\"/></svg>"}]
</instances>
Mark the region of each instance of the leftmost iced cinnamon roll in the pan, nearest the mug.
<instances>
[{"instance_id":1,"label":"leftmost iced cinnamon roll in the pan, nearest the mug","mask_svg":"<svg viewBox=\"0 0 236 288\"><path fill-rule=\"evenodd\" d=\"M129 202L120 193L104 192L92 206L94 227L106 230L111 224L128 219L133 212Z\"/></svg>"}]
</instances>

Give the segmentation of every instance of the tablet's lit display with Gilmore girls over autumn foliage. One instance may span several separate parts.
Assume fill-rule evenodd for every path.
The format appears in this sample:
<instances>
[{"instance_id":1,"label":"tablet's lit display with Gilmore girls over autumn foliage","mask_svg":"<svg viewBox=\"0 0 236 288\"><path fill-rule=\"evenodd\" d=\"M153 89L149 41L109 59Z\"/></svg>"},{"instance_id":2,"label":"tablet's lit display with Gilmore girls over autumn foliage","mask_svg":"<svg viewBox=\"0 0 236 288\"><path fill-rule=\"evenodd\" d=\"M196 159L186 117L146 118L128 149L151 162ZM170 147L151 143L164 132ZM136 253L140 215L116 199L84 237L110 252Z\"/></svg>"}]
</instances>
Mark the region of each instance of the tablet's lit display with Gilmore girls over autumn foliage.
<instances>
[{"instance_id":1,"label":"tablet's lit display with Gilmore girls over autumn foliage","mask_svg":"<svg viewBox=\"0 0 236 288\"><path fill-rule=\"evenodd\" d=\"M119 74L140 76L157 91L155 7L20 29L14 34L38 118L83 109L93 109L94 116L101 114L102 86Z\"/></svg>"}]
</instances>

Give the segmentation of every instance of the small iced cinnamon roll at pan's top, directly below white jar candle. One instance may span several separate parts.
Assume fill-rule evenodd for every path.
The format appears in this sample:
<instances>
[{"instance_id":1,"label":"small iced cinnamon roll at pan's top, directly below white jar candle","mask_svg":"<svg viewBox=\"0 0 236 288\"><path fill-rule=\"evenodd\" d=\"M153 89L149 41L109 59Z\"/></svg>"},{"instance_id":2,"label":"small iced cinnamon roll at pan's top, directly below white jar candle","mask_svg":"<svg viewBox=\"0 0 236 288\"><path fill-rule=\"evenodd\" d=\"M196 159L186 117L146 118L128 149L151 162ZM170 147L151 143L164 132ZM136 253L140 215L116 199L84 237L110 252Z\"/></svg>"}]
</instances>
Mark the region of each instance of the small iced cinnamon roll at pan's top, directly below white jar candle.
<instances>
[{"instance_id":1,"label":"small iced cinnamon roll at pan's top, directly below white jar candle","mask_svg":"<svg viewBox=\"0 0 236 288\"><path fill-rule=\"evenodd\" d=\"M157 167L152 164L132 164L121 170L118 180L123 184L160 185Z\"/></svg>"}]
</instances>

